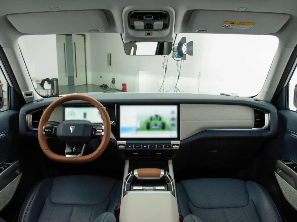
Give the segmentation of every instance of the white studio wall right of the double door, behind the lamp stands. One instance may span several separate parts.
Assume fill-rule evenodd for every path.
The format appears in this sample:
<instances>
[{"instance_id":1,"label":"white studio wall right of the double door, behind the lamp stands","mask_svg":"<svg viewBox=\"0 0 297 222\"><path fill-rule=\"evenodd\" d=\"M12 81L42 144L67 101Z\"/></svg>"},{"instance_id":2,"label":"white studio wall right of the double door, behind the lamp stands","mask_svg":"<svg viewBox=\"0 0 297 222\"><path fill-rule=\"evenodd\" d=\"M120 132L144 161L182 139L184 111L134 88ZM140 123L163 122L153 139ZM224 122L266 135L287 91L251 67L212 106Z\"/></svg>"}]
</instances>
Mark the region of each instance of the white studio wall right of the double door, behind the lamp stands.
<instances>
[{"instance_id":1,"label":"white studio wall right of the double door, behind the lamp stands","mask_svg":"<svg viewBox=\"0 0 297 222\"><path fill-rule=\"evenodd\" d=\"M278 44L274 36L192 33L178 34L177 41L183 36L187 42L194 42L194 53L193 56L187 55L187 60L182 62L178 88L190 93L224 92L238 93L240 96L258 94ZM111 79L116 78L118 89L121 89L124 82L127 91L159 90L163 81L164 57L125 55L121 38L115 33L90 34L90 46L92 84L110 85ZM111 53L111 66L107 65L108 53ZM139 70L142 70L141 74ZM176 61L169 58L165 89L174 91L175 85Z\"/></svg>"}]
</instances>

